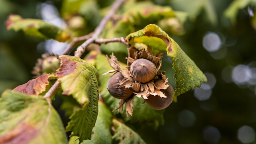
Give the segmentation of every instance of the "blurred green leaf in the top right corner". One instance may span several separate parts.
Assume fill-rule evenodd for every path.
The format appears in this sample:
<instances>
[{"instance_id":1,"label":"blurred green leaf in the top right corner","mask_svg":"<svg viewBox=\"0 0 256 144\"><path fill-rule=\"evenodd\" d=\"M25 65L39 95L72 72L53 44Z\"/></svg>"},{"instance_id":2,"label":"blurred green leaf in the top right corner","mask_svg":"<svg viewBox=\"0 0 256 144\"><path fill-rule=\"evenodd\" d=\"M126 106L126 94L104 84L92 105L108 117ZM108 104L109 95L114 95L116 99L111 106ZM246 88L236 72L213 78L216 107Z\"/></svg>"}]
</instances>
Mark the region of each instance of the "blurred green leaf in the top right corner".
<instances>
[{"instance_id":1,"label":"blurred green leaf in the top right corner","mask_svg":"<svg viewBox=\"0 0 256 144\"><path fill-rule=\"evenodd\" d=\"M236 22L238 11L245 8L249 4L256 6L256 0L234 0L225 10L224 16L229 18L232 22Z\"/></svg>"}]
</instances>

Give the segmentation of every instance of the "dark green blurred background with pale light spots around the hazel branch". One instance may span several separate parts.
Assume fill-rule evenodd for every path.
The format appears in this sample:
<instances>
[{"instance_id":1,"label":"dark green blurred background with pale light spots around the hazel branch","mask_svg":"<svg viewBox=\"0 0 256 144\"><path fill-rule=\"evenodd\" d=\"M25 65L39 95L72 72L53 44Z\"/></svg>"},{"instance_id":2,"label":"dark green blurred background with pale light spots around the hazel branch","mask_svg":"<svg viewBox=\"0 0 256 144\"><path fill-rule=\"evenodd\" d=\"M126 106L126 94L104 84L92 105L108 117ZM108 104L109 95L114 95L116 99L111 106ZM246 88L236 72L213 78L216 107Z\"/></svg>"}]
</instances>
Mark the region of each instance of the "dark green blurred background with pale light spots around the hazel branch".
<instances>
[{"instance_id":1,"label":"dark green blurred background with pale light spots around the hazel branch","mask_svg":"<svg viewBox=\"0 0 256 144\"><path fill-rule=\"evenodd\" d=\"M98 0L98 9L112 2ZM252 0L152 2L186 12L182 22L185 33L169 35L204 72L208 82L178 96L178 102L166 108L165 124L156 131L145 127L137 132L148 144L256 144L256 3ZM0 0L0 93L32 79L31 71L41 54L58 54L67 46L7 31L4 22L8 15L40 18L64 28L66 23L59 14L62 3L62 0ZM236 5L230 10L234 16L228 17L231 4ZM88 32L93 31L98 21L88 24L91 28ZM174 85L170 58L164 57L163 63L162 69ZM58 98L56 101L58 109Z\"/></svg>"}]
</instances>

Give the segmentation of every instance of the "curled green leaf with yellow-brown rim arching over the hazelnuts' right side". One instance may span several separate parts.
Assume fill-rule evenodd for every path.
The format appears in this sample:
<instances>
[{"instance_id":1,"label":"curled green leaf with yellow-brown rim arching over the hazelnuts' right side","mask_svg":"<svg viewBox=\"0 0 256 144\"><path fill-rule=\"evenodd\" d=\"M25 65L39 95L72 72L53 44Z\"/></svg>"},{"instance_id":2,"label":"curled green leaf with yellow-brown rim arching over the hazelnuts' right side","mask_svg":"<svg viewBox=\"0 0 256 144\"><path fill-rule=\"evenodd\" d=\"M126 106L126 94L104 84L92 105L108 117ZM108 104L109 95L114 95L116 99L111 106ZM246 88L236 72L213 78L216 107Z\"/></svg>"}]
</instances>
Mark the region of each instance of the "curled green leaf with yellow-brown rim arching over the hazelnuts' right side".
<instances>
[{"instance_id":1,"label":"curled green leaf with yellow-brown rim arching over the hazelnuts' right side","mask_svg":"<svg viewBox=\"0 0 256 144\"><path fill-rule=\"evenodd\" d=\"M144 38L143 36L154 36L164 41L165 46L151 46L153 50L154 48L158 51L166 50L167 55L172 58L172 68L175 70L174 78L176 79L176 90L173 96L178 96L188 90L201 87L203 82L207 82L206 76L196 66L193 60L191 60L180 46L157 25L149 24L142 30L129 34L126 39L130 44L134 44L134 41L138 41L137 39L140 37ZM144 44L147 45L147 43Z\"/></svg>"}]
</instances>

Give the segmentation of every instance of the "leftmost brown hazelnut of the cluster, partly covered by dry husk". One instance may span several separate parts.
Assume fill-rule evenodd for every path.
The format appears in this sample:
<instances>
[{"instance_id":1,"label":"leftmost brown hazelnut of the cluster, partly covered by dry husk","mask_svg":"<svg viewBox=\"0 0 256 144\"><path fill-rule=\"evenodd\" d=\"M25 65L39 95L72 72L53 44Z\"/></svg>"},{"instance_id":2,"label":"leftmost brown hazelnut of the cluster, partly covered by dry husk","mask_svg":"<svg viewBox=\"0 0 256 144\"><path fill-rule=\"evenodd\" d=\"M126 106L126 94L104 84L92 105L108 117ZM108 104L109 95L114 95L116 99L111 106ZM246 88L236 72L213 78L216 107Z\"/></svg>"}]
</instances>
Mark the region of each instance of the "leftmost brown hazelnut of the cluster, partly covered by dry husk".
<instances>
[{"instance_id":1,"label":"leftmost brown hazelnut of the cluster, partly covered by dry husk","mask_svg":"<svg viewBox=\"0 0 256 144\"><path fill-rule=\"evenodd\" d=\"M132 88L120 87L120 82L124 79L121 72L116 72L112 75L107 84L108 92L115 98L125 99L133 95L134 90Z\"/></svg>"}]
</instances>

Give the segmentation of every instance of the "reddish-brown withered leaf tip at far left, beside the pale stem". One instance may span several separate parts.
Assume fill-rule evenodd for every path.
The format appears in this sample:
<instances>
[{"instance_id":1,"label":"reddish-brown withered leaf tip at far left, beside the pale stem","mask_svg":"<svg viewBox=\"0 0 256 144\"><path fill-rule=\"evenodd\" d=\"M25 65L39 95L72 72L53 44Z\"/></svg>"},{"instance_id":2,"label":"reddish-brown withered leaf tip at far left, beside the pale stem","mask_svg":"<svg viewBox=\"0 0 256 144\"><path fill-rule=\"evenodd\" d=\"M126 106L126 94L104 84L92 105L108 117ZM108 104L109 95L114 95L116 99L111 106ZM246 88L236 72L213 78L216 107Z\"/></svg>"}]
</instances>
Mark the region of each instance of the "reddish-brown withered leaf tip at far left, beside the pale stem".
<instances>
[{"instance_id":1,"label":"reddish-brown withered leaf tip at far left, beside the pale stem","mask_svg":"<svg viewBox=\"0 0 256 144\"><path fill-rule=\"evenodd\" d=\"M48 74L39 76L38 78L29 80L26 84L22 84L14 88L13 91L21 92L24 94L42 94L49 86Z\"/></svg>"}]
</instances>

